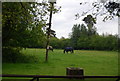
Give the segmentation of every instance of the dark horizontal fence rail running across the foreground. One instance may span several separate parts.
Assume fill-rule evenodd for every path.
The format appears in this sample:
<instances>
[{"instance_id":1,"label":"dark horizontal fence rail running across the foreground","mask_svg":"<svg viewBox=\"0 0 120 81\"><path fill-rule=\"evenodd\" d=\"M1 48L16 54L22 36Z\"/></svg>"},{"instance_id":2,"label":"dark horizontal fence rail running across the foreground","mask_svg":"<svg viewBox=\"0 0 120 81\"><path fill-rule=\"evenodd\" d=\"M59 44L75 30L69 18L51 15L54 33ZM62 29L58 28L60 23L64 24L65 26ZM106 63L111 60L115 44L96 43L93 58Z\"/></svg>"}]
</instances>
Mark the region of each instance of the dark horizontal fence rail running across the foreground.
<instances>
[{"instance_id":1,"label":"dark horizontal fence rail running across the foreground","mask_svg":"<svg viewBox=\"0 0 120 81\"><path fill-rule=\"evenodd\" d=\"M81 75L66 75L66 76L49 76L49 75L15 75L15 74L3 74L0 77L23 77L23 78L33 78L39 81L39 78L116 78L116 81L120 80L120 76L81 76Z\"/></svg>"}]
</instances>

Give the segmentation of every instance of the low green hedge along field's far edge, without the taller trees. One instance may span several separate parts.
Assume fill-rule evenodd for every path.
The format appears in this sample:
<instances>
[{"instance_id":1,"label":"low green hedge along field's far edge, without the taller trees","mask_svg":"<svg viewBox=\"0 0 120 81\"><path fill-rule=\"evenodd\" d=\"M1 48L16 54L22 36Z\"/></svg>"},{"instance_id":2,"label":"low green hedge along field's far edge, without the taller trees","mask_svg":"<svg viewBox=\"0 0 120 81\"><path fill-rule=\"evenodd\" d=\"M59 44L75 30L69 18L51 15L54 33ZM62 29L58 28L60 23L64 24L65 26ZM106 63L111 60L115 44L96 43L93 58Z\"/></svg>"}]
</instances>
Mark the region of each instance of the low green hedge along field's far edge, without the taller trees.
<instances>
[{"instance_id":1,"label":"low green hedge along field's far edge, without the taller trees","mask_svg":"<svg viewBox=\"0 0 120 81\"><path fill-rule=\"evenodd\" d=\"M51 38L50 45L56 49L64 49L72 46L76 50L118 50L117 35L94 35L91 37L79 37L76 43L71 38Z\"/></svg>"}]
</instances>

